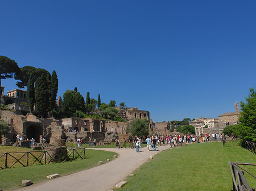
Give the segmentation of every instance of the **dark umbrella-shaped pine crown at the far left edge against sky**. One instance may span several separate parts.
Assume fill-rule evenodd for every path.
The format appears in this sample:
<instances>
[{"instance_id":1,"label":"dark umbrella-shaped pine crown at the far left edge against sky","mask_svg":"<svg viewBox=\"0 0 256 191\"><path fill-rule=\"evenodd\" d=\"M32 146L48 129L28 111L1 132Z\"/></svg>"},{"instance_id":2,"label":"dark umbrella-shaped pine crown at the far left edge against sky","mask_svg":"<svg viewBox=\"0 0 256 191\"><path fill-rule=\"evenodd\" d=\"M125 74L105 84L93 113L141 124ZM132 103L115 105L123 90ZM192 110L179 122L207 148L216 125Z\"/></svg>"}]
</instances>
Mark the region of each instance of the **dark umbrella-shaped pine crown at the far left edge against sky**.
<instances>
[{"instance_id":1,"label":"dark umbrella-shaped pine crown at the far left edge against sky","mask_svg":"<svg viewBox=\"0 0 256 191\"><path fill-rule=\"evenodd\" d=\"M0 87L1 79L13 78L14 74L18 73L19 70L17 63L14 60L11 60L6 56L0 56ZM2 95L2 89L0 90L0 95Z\"/></svg>"}]
</instances>

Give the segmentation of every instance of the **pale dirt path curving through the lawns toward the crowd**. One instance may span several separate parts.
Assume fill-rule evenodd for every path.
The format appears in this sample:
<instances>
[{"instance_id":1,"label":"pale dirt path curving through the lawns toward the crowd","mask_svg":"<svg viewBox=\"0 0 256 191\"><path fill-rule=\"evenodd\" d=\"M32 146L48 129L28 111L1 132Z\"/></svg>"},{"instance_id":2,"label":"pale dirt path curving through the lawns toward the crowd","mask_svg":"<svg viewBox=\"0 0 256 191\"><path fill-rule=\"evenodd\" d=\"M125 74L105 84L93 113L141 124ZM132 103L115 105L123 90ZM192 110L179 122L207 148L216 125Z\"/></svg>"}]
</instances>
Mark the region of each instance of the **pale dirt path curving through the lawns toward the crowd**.
<instances>
[{"instance_id":1,"label":"pale dirt path curving through the lawns toward the crowd","mask_svg":"<svg viewBox=\"0 0 256 191\"><path fill-rule=\"evenodd\" d=\"M19 190L33 190L33 191L45 191L45 190L61 190L61 191L100 191L110 190L115 187L116 184L123 181L130 173L135 171L145 163L149 156L154 156L162 150L166 150L170 146L161 146L157 148L157 151L148 151L146 147L140 149L140 152L136 152L135 148L93 148L97 150L112 151L118 153L118 158L112 162L99 165L94 168L86 169L71 175L58 177L56 179L40 182L35 185L17 189ZM56 172L58 173L58 172Z\"/></svg>"}]
</instances>

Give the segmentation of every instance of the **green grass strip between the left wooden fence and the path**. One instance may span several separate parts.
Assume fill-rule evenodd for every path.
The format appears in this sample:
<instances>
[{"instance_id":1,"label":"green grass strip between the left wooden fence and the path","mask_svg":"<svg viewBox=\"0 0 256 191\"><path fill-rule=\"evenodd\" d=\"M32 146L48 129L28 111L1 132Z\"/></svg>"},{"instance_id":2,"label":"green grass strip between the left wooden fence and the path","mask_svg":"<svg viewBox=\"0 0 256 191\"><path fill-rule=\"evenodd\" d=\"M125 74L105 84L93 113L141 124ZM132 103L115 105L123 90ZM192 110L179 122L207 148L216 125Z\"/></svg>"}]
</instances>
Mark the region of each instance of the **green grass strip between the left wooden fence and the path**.
<instances>
[{"instance_id":1,"label":"green grass strip between the left wooden fence and the path","mask_svg":"<svg viewBox=\"0 0 256 191\"><path fill-rule=\"evenodd\" d=\"M10 149L13 150L13 148ZM22 148L22 151L24 150L26 149ZM3 150L1 150L1 152L2 151ZM53 173L58 173L60 176L64 176L70 173L79 172L83 169L99 165L99 160L106 163L106 159L112 160L113 155L117 154L115 152L86 149L85 155L86 159L80 159L73 162L2 169L0 170L0 188L3 190L13 190L22 185L22 180L31 180L33 183L37 183L47 180L46 176L52 175Z\"/></svg>"}]
</instances>

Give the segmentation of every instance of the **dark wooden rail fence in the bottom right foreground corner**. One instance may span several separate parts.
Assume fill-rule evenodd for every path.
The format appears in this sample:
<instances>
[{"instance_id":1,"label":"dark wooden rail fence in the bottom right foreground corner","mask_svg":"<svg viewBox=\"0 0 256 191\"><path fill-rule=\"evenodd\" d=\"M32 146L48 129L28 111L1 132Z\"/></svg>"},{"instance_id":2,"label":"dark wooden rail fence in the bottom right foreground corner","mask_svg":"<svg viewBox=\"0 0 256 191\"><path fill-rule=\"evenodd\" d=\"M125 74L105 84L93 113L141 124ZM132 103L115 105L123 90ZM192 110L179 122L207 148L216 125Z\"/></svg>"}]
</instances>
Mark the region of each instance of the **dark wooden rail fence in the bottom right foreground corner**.
<instances>
[{"instance_id":1,"label":"dark wooden rail fence in the bottom right foreground corner","mask_svg":"<svg viewBox=\"0 0 256 191\"><path fill-rule=\"evenodd\" d=\"M251 188L249 184L247 184L244 173L247 172L249 175L253 176L255 179L256 179L256 176L254 176L252 173L250 173L246 169L242 168L241 165L256 166L256 164L250 164L250 163L229 162L229 167L230 167L230 171L232 174L232 181L233 181L233 191L255 191L255 188Z\"/></svg>"}]
</instances>

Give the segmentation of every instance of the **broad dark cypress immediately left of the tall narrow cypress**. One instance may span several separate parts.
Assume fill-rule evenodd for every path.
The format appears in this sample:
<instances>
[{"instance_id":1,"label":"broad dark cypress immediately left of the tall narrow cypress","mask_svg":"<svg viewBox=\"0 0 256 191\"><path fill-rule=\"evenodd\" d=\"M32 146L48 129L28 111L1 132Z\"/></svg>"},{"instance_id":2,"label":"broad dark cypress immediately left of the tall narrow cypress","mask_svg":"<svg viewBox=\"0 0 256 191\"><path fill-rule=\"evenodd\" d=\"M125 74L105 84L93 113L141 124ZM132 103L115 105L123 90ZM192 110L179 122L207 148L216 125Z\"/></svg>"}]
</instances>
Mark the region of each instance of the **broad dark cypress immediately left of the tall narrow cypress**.
<instances>
[{"instance_id":1,"label":"broad dark cypress immediately left of the tall narrow cypress","mask_svg":"<svg viewBox=\"0 0 256 191\"><path fill-rule=\"evenodd\" d=\"M46 115L49 107L49 84L46 74L42 74L35 82L36 110L43 116Z\"/></svg>"}]
</instances>

